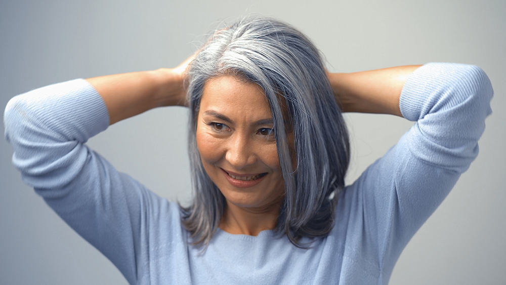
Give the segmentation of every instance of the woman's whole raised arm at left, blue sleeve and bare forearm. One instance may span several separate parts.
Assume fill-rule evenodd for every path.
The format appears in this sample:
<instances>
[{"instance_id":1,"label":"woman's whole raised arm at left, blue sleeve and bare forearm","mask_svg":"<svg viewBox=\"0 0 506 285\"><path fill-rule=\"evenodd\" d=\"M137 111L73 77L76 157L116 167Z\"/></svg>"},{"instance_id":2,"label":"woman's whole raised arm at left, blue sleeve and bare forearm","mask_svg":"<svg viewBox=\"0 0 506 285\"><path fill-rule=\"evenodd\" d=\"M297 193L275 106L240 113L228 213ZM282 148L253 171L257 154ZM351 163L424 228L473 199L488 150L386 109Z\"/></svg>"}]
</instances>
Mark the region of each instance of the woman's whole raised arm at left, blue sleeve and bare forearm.
<instances>
[{"instance_id":1,"label":"woman's whole raised arm at left, blue sleeve and bare forearm","mask_svg":"<svg viewBox=\"0 0 506 285\"><path fill-rule=\"evenodd\" d=\"M86 142L121 119L161 105L183 105L183 72L158 69L70 80L16 96L4 113L12 162L23 181L130 283L137 283L149 264L142 233L163 216L170 219L164 236L177 235L177 205L116 171Z\"/></svg>"}]
</instances>

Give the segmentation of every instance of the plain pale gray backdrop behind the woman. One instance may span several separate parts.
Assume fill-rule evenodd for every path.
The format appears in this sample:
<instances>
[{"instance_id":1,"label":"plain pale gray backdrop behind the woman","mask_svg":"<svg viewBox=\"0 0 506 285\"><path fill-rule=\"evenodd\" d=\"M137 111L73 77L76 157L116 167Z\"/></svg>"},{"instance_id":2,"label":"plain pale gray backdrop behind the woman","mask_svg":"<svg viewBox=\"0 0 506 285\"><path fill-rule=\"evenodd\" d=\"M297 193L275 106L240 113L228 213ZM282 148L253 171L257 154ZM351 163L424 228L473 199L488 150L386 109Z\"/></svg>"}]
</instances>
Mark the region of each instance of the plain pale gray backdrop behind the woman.
<instances>
[{"instance_id":1,"label":"plain pale gray backdrop behind the woman","mask_svg":"<svg viewBox=\"0 0 506 285\"><path fill-rule=\"evenodd\" d=\"M301 29L332 71L431 61L479 65L495 90L480 155L410 241L391 284L504 284L505 3L3 0L0 107L16 94L63 80L175 66L221 21L248 13ZM387 115L346 119L353 147L348 183L412 124ZM187 202L186 124L184 108L156 109L110 127L90 145L156 193ZM5 140L0 150L0 283L126 283L22 184Z\"/></svg>"}]
</instances>

